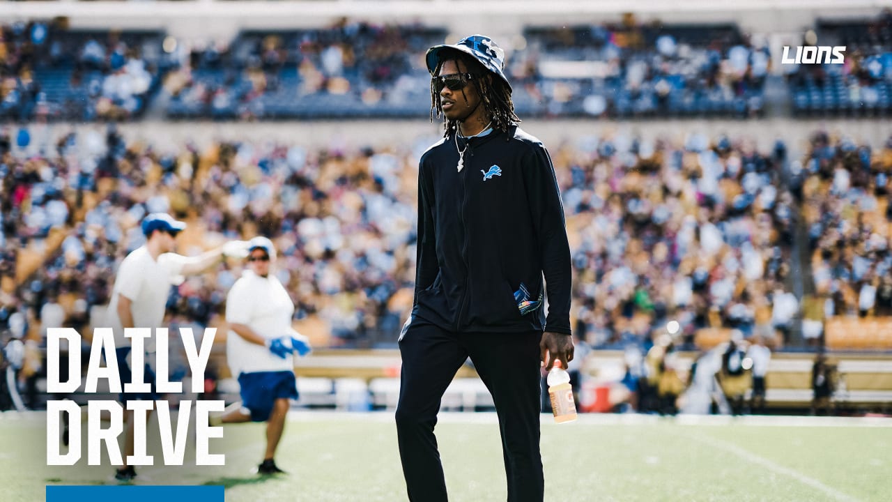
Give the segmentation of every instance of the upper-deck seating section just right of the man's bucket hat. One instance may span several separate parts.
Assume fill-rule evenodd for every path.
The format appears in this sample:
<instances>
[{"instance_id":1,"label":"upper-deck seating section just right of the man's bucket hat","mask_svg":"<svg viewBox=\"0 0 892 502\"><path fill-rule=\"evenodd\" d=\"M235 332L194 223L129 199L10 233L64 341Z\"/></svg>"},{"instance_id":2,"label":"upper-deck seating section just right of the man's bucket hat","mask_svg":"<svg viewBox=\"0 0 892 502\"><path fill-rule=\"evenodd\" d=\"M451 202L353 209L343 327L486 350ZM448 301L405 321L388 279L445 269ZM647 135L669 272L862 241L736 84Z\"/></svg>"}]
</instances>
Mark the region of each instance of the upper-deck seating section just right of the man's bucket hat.
<instances>
[{"instance_id":1,"label":"upper-deck seating section just right of the man's bucket hat","mask_svg":"<svg viewBox=\"0 0 892 502\"><path fill-rule=\"evenodd\" d=\"M543 110L548 114L763 113L767 52L748 47L733 25L531 28L524 38L526 47L514 58L532 67L523 70L536 76L527 87L549 102ZM723 63L736 72L720 75ZM523 76L515 75L524 82ZM731 84L719 83L725 79Z\"/></svg>"}]
</instances>

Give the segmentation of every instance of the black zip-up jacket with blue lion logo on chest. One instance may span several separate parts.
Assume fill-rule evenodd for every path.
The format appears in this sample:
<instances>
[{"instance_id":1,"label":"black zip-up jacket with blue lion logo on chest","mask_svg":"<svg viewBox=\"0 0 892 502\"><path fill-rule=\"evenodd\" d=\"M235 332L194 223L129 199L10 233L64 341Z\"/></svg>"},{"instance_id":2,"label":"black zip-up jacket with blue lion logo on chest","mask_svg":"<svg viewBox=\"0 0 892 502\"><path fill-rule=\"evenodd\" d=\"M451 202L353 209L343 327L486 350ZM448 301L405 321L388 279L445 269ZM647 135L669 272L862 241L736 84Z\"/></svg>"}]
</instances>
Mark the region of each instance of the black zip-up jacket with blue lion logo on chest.
<instances>
[{"instance_id":1,"label":"black zip-up jacket with blue lion logo on chest","mask_svg":"<svg viewBox=\"0 0 892 502\"><path fill-rule=\"evenodd\" d=\"M570 334L570 247L558 181L545 146L512 127L431 146L418 166L415 305L409 325L444 330ZM545 302L521 314L515 291Z\"/></svg>"}]
</instances>

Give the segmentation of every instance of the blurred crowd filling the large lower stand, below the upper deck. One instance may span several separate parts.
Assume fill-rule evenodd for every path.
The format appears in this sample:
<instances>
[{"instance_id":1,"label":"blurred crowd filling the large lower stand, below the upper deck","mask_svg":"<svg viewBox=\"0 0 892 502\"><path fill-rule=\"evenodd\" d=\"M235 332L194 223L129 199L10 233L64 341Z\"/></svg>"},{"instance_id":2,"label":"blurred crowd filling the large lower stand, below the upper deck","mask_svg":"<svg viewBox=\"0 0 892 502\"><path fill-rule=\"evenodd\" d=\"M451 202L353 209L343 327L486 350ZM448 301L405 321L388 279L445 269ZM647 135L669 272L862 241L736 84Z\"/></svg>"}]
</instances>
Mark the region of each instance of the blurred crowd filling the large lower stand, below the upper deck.
<instances>
[{"instance_id":1,"label":"blurred crowd filling the large lower stand, below the upper deck","mask_svg":"<svg viewBox=\"0 0 892 502\"><path fill-rule=\"evenodd\" d=\"M394 342L412 301L415 166L429 138L391 150L244 142L161 153L110 127L25 156L14 132L0 132L11 196L0 216L0 328L21 335L47 312L89 322L116 265L142 243L136 223L168 211L190 222L178 241L187 254L224 238L274 238L295 317L324 325L327 344ZM807 155L789 158L782 140L762 152L747 138L690 134L675 144L617 133L552 155L575 331L592 346L646 348L655 327L677 320L685 345L732 328L782 347L800 318L816 322L802 331L816 340L825 317L892 308L892 138L871 149L817 133ZM802 263L797 232L811 236ZM47 248L57 251L43 263ZM237 273L230 265L178 287L175 319L214 322Z\"/></svg>"}]
</instances>

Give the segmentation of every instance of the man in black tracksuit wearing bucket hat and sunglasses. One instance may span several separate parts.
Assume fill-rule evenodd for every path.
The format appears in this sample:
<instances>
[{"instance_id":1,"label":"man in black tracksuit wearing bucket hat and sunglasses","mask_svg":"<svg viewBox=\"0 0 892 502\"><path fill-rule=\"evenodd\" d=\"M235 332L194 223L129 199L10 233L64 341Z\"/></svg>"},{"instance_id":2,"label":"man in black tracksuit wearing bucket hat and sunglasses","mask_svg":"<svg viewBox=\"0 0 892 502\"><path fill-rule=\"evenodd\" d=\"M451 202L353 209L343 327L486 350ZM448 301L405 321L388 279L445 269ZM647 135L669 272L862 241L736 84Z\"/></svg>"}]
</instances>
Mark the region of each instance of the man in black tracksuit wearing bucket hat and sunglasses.
<instances>
[{"instance_id":1,"label":"man in black tracksuit wearing bucket hat and sunglasses","mask_svg":"<svg viewBox=\"0 0 892 502\"><path fill-rule=\"evenodd\" d=\"M573 359L558 183L545 147L517 127L503 63L479 35L427 53L446 134L418 167L415 304L400 335L396 423L413 501L447 499L434 425L470 356L499 414L508 500L541 502L540 368Z\"/></svg>"}]
</instances>

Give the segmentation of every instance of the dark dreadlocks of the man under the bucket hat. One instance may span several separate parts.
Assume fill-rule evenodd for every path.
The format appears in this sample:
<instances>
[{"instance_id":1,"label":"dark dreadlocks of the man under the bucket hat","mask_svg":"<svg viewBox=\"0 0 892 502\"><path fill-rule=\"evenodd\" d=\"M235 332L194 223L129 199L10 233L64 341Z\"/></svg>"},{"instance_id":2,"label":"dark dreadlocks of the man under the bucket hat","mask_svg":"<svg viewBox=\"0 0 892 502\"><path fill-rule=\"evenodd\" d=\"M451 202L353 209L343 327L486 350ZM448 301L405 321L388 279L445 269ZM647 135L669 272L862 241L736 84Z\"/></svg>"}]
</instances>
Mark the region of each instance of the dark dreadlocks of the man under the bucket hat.
<instances>
[{"instance_id":1,"label":"dark dreadlocks of the man under the bucket hat","mask_svg":"<svg viewBox=\"0 0 892 502\"><path fill-rule=\"evenodd\" d=\"M475 75L475 79L470 79L471 85L477 90L483 102L483 109L492 120L492 128L501 131L508 131L512 125L520 122L520 118L514 113L514 102L511 101L511 88L508 84L483 67L483 64L475 58L458 51L450 51L442 57L437 67L434 69L434 75L439 75L442 66L447 61L458 61L465 63L468 73ZM485 76L495 78L487 79ZM461 95L467 99L465 89L461 89ZM434 117L439 119L442 116L443 136L449 136L450 132L458 130L458 121L450 121L442 110L440 93L434 88L434 80L431 79L431 121Z\"/></svg>"}]
</instances>

